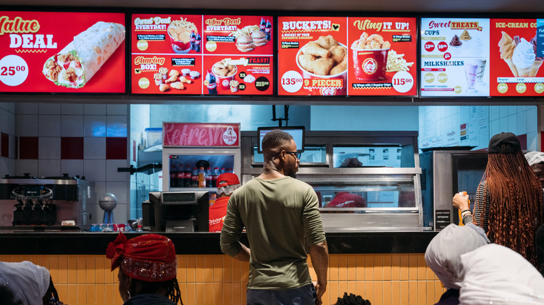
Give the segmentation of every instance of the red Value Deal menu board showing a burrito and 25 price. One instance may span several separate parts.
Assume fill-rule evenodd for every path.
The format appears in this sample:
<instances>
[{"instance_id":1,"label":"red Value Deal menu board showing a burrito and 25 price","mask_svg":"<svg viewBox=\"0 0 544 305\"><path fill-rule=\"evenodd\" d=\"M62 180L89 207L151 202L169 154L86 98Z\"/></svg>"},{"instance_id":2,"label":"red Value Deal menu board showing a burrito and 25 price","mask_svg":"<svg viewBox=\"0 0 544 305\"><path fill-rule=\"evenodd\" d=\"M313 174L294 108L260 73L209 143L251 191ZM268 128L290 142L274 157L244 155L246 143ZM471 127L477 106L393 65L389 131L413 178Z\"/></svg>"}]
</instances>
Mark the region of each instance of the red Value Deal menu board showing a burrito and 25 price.
<instances>
[{"instance_id":1,"label":"red Value Deal menu board showing a burrito and 25 price","mask_svg":"<svg viewBox=\"0 0 544 305\"><path fill-rule=\"evenodd\" d=\"M125 14L0 16L0 92L126 92Z\"/></svg>"}]
</instances>

